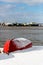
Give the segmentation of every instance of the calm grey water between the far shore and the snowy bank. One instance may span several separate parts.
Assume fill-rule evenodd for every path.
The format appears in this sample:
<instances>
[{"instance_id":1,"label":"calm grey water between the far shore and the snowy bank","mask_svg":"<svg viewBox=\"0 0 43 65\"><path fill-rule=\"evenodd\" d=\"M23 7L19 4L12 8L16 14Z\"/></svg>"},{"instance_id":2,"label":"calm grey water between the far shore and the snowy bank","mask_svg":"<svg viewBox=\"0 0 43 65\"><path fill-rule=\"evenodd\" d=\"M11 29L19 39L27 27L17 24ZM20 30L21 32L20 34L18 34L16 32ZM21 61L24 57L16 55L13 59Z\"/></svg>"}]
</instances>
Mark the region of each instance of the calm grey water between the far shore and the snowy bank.
<instances>
[{"instance_id":1,"label":"calm grey water between the far shore and the snowy bank","mask_svg":"<svg viewBox=\"0 0 43 65\"><path fill-rule=\"evenodd\" d=\"M24 37L30 39L33 45L43 45L43 30L41 29L0 29L0 47L3 47L7 39Z\"/></svg>"}]
</instances>

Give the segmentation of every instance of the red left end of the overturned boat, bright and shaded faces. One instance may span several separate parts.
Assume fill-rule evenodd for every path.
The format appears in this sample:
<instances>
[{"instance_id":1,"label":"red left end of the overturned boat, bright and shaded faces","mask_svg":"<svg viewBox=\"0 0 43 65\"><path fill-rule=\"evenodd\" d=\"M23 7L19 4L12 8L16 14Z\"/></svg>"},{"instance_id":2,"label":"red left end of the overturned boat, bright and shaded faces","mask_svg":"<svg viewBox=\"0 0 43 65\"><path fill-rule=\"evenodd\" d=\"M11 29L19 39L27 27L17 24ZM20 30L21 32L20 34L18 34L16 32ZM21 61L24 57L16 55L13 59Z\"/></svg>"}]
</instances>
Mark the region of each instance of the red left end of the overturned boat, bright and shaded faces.
<instances>
[{"instance_id":1,"label":"red left end of the overturned boat, bright and shaded faces","mask_svg":"<svg viewBox=\"0 0 43 65\"><path fill-rule=\"evenodd\" d=\"M4 44L3 52L9 53L9 52L13 52L15 50L17 50L17 47L14 44L14 42L12 40L7 40Z\"/></svg>"}]
</instances>

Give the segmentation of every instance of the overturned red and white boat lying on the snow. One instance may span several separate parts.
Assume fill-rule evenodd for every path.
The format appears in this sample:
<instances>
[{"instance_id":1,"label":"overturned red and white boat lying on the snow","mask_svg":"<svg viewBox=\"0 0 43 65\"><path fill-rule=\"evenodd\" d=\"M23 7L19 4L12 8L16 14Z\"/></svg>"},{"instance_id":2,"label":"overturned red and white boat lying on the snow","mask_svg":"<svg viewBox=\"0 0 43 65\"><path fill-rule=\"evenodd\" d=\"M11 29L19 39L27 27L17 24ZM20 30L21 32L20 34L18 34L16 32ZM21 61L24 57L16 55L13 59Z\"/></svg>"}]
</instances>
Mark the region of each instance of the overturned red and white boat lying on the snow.
<instances>
[{"instance_id":1,"label":"overturned red and white boat lying on the snow","mask_svg":"<svg viewBox=\"0 0 43 65\"><path fill-rule=\"evenodd\" d=\"M26 38L15 38L7 40L3 47L4 53L10 53L16 50L23 50L32 47L32 42Z\"/></svg>"}]
</instances>

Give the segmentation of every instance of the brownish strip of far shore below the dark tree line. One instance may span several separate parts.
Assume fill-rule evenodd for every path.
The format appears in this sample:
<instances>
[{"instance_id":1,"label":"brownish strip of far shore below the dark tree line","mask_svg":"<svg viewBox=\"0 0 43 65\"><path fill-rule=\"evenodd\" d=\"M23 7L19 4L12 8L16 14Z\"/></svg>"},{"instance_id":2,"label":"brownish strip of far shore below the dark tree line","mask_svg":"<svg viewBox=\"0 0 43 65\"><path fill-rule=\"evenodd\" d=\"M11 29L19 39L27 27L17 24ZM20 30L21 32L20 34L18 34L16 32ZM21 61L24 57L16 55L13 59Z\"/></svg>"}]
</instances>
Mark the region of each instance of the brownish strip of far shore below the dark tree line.
<instances>
[{"instance_id":1,"label":"brownish strip of far shore below the dark tree line","mask_svg":"<svg viewBox=\"0 0 43 65\"><path fill-rule=\"evenodd\" d=\"M43 27L39 27L39 26L0 26L0 30L13 30L13 29L43 30Z\"/></svg>"}]
</instances>

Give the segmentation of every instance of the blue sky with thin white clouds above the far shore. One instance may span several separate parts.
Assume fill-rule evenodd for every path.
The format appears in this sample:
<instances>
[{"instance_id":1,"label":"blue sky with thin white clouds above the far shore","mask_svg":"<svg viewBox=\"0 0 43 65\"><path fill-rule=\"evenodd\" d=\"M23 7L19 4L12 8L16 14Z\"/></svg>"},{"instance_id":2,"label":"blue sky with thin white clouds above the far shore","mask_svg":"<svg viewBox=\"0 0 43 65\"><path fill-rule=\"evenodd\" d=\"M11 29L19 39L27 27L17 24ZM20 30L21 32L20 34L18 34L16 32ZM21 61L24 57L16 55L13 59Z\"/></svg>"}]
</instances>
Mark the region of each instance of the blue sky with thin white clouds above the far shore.
<instances>
[{"instance_id":1,"label":"blue sky with thin white clouds above the far shore","mask_svg":"<svg viewBox=\"0 0 43 65\"><path fill-rule=\"evenodd\" d=\"M43 0L0 0L0 22L43 23Z\"/></svg>"}]
</instances>

